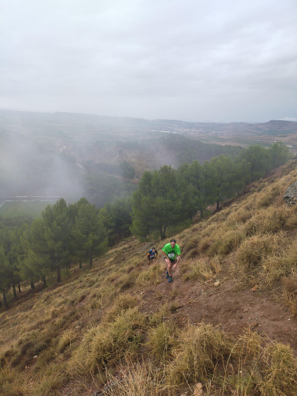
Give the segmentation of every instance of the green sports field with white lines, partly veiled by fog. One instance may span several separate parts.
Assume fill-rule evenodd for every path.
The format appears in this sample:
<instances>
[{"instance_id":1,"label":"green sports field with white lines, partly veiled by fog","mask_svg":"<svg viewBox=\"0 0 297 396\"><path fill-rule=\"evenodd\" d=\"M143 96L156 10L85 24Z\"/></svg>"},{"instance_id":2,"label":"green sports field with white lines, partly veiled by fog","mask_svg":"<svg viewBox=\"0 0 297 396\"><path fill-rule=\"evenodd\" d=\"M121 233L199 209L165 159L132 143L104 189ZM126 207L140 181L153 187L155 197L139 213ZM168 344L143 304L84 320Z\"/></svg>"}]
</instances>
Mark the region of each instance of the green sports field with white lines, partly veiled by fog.
<instances>
[{"instance_id":1,"label":"green sports field with white lines, partly veiled by fog","mask_svg":"<svg viewBox=\"0 0 297 396\"><path fill-rule=\"evenodd\" d=\"M48 205L55 202L44 201L14 201L4 202L0 208L0 216L2 217L17 217L17 216L32 216L39 217L41 211Z\"/></svg>"}]
</instances>

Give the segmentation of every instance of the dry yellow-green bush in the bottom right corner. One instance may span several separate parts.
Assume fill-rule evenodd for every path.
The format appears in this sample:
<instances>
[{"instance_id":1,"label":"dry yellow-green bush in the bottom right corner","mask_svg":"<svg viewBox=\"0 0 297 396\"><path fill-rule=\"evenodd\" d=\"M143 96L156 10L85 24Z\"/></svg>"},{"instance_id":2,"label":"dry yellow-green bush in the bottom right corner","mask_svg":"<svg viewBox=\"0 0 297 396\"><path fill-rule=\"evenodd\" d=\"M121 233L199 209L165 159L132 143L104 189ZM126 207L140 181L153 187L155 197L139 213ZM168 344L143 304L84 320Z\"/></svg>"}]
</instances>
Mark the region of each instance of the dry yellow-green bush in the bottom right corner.
<instances>
[{"instance_id":1,"label":"dry yellow-green bush in the bottom right corner","mask_svg":"<svg viewBox=\"0 0 297 396\"><path fill-rule=\"evenodd\" d=\"M261 360L261 394L297 395L297 360L289 345L276 341L268 344L263 350Z\"/></svg>"}]
</instances>

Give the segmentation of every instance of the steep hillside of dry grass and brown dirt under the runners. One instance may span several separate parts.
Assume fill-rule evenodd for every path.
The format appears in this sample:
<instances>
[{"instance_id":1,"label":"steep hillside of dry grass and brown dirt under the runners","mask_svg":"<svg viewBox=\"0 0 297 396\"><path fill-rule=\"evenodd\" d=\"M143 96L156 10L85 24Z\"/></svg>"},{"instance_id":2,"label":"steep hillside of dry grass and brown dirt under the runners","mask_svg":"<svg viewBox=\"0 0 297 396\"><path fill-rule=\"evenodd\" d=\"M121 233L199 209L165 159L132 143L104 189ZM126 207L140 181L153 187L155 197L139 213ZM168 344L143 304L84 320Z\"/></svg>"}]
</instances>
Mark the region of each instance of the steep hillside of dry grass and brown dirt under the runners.
<instances>
[{"instance_id":1,"label":"steep hillside of dry grass and brown dirt under the runners","mask_svg":"<svg viewBox=\"0 0 297 396\"><path fill-rule=\"evenodd\" d=\"M128 238L22 293L0 310L0 394L189 395L200 382L205 395L296 395L297 208L282 200L296 179L291 163L174 236L171 284L160 255L145 260L164 242Z\"/></svg>"}]
</instances>

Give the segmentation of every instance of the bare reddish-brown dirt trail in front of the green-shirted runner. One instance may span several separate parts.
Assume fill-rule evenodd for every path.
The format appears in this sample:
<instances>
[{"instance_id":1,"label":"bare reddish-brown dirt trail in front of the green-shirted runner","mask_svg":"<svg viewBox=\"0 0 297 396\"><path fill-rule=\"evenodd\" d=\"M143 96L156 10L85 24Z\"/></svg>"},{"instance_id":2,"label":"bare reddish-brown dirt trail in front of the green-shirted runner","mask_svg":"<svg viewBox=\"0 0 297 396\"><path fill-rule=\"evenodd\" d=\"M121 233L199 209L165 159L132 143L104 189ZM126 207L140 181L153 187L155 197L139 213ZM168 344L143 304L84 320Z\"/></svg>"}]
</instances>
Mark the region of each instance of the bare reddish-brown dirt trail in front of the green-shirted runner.
<instances>
[{"instance_id":1,"label":"bare reddish-brown dirt trail in front of the green-shirted runner","mask_svg":"<svg viewBox=\"0 0 297 396\"><path fill-rule=\"evenodd\" d=\"M233 335L240 335L246 329L270 340L290 344L297 355L297 323L285 304L278 303L272 292L236 289L233 280L224 281L217 277L210 282L183 282L179 269L173 272L173 282L165 279L154 290L145 293L145 307L155 310L169 299L178 308L175 312L192 322L210 323ZM219 279L221 284L214 287ZM173 294L179 293L176 297Z\"/></svg>"}]
</instances>

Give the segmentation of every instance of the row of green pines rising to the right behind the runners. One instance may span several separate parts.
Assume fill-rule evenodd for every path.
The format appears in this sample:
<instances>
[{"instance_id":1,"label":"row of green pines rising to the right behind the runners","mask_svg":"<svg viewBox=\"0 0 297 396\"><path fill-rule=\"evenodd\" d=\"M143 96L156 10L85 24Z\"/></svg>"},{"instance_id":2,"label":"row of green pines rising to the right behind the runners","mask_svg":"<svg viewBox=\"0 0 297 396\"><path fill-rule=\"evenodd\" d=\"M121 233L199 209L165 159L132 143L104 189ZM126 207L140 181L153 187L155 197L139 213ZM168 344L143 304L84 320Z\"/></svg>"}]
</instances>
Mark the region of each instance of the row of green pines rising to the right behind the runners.
<instances>
[{"instance_id":1,"label":"row of green pines rising to the right behind the runners","mask_svg":"<svg viewBox=\"0 0 297 396\"><path fill-rule=\"evenodd\" d=\"M221 154L200 164L185 162L178 169L163 166L146 171L132 195L131 232L145 240L152 232L166 238L166 229L209 205L219 204L289 159L289 148L274 143L269 149L255 145L242 148L233 159Z\"/></svg>"}]
</instances>

